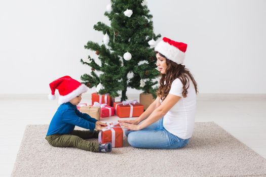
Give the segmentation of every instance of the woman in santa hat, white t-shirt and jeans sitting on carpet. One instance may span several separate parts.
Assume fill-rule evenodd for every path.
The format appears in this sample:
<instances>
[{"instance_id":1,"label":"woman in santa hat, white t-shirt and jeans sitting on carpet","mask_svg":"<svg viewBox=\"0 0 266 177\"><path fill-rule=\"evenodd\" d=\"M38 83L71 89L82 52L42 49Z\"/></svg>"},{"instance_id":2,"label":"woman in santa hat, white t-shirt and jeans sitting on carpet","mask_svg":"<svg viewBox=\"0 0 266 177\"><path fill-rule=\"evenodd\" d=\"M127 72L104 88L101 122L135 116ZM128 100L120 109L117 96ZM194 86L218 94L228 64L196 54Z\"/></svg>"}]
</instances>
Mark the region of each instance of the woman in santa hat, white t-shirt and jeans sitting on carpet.
<instances>
[{"instance_id":1,"label":"woman in santa hat, white t-shirt and jeans sitting on carpet","mask_svg":"<svg viewBox=\"0 0 266 177\"><path fill-rule=\"evenodd\" d=\"M183 63L187 45L164 37L155 48L161 80L157 99L136 120L120 120L133 147L178 149L192 137L197 83Z\"/></svg>"}]
</instances>

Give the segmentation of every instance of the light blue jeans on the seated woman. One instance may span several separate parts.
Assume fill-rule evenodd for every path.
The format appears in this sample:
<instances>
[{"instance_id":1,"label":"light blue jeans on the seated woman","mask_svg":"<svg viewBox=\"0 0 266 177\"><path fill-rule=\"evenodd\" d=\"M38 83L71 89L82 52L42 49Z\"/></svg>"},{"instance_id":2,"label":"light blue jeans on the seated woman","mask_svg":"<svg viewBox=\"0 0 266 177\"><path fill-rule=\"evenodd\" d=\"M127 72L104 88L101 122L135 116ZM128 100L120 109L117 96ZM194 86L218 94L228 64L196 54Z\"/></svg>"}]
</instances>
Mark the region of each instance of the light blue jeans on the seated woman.
<instances>
[{"instance_id":1,"label":"light blue jeans on the seated woman","mask_svg":"<svg viewBox=\"0 0 266 177\"><path fill-rule=\"evenodd\" d=\"M128 143L136 148L178 149L187 145L189 139L181 139L163 126L163 118L142 130L126 130Z\"/></svg>"}]
</instances>

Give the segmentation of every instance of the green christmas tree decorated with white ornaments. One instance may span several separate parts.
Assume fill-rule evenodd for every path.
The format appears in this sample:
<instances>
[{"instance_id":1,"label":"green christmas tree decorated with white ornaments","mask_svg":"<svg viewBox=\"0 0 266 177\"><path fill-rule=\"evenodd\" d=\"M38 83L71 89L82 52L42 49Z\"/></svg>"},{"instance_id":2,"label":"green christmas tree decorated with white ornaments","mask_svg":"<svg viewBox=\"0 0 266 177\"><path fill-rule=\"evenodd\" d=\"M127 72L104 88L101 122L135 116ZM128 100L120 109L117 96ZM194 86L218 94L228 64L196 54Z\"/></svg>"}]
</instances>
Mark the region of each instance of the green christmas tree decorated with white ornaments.
<instances>
[{"instance_id":1,"label":"green christmas tree decorated with white ornaments","mask_svg":"<svg viewBox=\"0 0 266 177\"><path fill-rule=\"evenodd\" d=\"M94 25L95 30L104 34L103 43L88 41L85 46L96 52L101 65L90 56L89 62L81 60L91 67L91 74L83 74L81 79L89 87L97 86L99 94L108 93L115 98L121 91L121 101L127 100L128 87L156 97L154 86L159 72L152 47L161 35L153 31L153 16L146 0L111 0L104 15L110 26L102 22Z\"/></svg>"}]
</instances>

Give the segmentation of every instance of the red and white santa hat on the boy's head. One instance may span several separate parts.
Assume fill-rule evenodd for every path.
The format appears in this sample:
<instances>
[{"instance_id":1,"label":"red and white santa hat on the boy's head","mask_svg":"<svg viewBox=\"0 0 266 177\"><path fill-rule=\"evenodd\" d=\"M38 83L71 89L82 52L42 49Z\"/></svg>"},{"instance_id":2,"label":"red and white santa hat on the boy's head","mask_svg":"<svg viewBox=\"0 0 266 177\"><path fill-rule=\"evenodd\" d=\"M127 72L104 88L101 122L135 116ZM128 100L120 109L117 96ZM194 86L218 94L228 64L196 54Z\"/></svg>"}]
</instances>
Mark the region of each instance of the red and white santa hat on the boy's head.
<instances>
[{"instance_id":1,"label":"red and white santa hat on the boy's head","mask_svg":"<svg viewBox=\"0 0 266 177\"><path fill-rule=\"evenodd\" d=\"M81 84L78 80L72 79L70 76L60 77L54 80L50 84L51 94L49 94L49 100L55 99L55 90L59 92L58 103L61 105L67 103L73 98L87 92L88 87Z\"/></svg>"}]
</instances>

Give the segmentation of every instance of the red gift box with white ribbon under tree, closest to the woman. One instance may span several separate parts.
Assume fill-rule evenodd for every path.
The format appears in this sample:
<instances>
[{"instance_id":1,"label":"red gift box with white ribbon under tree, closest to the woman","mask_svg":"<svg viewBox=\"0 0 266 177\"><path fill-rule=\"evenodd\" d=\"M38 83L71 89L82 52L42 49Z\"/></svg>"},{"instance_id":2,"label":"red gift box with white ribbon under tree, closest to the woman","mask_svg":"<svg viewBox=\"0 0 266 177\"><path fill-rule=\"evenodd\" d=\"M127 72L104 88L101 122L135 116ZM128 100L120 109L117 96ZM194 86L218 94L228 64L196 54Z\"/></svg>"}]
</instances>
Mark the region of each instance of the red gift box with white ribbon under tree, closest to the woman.
<instances>
[{"instance_id":1,"label":"red gift box with white ribbon under tree, closest to the woman","mask_svg":"<svg viewBox=\"0 0 266 177\"><path fill-rule=\"evenodd\" d=\"M116 115L123 117L139 117L144 112L144 106L133 101L114 102L113 107L116 109Z\"/></svg>"}]
</instances>

